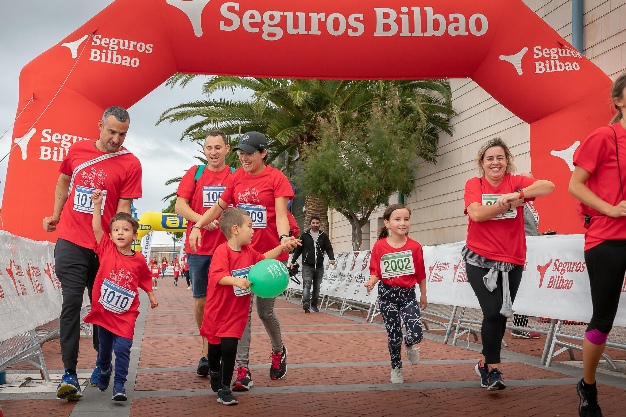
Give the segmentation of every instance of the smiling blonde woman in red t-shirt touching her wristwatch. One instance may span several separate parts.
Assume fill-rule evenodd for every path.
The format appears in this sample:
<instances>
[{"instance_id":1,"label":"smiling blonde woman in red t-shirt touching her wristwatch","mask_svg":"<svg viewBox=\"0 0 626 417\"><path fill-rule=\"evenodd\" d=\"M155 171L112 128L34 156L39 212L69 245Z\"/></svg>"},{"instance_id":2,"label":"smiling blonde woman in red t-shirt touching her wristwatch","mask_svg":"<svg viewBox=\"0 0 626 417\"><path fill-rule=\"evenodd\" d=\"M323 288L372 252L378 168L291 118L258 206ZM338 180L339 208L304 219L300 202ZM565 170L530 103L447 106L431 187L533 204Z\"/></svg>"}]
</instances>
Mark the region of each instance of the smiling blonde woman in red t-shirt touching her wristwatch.
<instances>
[{"instance_id":1,"label":"smiling blonde woman in red t-shirt touching her wristwatch","mask_svg":"<svg viewBox=\"0 0 626 417\"><path fill-rule=\"evenodd\" d=\"M523 209L525 201L550 194L554 184L515 174L513 155L500 138L487 141L476 157L480 177L465 184L469 216L466 246L461 251L468 281L483 310L483 358L476 364L480 384L489 391L505 389L500 342L526 261Z\"/></svg>"}]
</instances>

